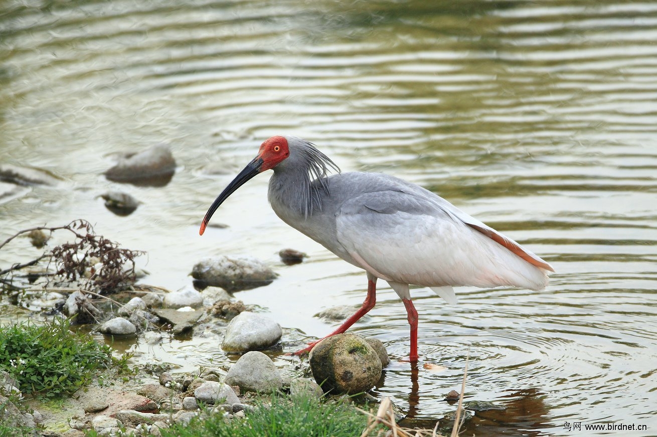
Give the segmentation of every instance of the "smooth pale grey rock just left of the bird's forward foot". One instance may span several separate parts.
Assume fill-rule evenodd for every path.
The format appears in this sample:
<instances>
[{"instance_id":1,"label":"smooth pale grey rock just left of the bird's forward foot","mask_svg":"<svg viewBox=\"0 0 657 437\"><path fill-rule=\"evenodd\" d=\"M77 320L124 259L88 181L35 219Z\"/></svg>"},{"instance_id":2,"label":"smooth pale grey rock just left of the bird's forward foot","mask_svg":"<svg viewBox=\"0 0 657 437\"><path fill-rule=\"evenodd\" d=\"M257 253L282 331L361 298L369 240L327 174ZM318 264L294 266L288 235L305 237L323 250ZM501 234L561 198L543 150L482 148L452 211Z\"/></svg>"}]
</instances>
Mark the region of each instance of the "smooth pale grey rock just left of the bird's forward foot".
<instances>
[{"instance_id":1,"label":"smooth pale grey rock just left of the bird's forward foot","mask_svg":"<svg viewBox=\"0 0 657 437\"><path fill-rule=\"evenodd\" d=\"M221 348L226 352L246 352L273 346L283 335L281 325L250 311L236 316L226 327Z\"/></svg>"}]
</instances>

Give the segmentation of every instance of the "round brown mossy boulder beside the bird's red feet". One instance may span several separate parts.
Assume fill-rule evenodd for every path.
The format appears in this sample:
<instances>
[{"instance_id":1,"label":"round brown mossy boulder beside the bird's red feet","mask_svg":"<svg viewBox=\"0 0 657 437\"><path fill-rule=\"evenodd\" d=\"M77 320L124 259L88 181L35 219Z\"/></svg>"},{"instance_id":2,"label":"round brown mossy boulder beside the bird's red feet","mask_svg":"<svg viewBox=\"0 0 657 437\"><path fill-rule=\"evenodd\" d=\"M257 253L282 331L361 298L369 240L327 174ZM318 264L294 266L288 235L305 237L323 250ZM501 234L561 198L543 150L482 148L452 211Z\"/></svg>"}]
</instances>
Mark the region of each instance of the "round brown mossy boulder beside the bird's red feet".
<instances>
[{"instance_id":1,"label":"round brown mossy boulder beside the bird's red feet","mask_svg":"<svg viewBox=\"0 0 657 437\"><path fill-rule=\"evenodd\" d=\"M322 340L310 351L309 362L325 392L365 392L381 377L381 360L359 335L338 334Z\"/></svg>"}]
</instances>

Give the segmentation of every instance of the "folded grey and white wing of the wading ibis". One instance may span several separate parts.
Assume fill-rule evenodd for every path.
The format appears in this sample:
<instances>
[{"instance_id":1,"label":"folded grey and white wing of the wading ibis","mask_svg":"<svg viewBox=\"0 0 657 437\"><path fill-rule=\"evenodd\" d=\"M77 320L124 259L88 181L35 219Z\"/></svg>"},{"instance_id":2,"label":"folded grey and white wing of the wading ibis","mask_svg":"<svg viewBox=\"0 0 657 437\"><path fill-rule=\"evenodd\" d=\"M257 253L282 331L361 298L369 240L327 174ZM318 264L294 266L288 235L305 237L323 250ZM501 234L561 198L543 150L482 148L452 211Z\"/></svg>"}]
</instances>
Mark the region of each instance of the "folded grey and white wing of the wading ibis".
<instances>
[{"instance_id":1,"label":"folded grey and white wing of the wading ibis","mask_svg":"<svg viewBox=\"0 0 657 437\"><path fill-rule=\"evenodd\" d=\"M365 270L388 281L428 287L545 286L545 274L466 224L460 210L444 202L402 190L352 197L336 213L338 241Z\"/></svg>"}]
</instances>

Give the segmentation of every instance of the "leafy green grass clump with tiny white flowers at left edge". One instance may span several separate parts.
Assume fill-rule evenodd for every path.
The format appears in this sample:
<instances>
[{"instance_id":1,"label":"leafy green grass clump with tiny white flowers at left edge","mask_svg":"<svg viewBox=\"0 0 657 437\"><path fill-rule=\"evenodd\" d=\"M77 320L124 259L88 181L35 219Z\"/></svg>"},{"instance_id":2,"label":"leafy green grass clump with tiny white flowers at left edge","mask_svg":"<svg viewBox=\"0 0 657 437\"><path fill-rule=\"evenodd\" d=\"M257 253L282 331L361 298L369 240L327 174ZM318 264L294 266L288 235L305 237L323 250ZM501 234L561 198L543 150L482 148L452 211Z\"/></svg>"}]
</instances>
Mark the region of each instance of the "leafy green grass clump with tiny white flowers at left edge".
<instances>
[{"instance_id":1,"label":"leafy green grass clump with tiny white flowers at left edge","mask_svg":"<svg viewBox=\"0 0 657 437\"><path fill-rule=\"evenodd\" d=\"M0 369L18 381L22 392L39 398L76 392L93 379L96 369L112 364L112 349L69 327L66 319L43 326L0 327Z\"/></svg>"}]
</instances>

